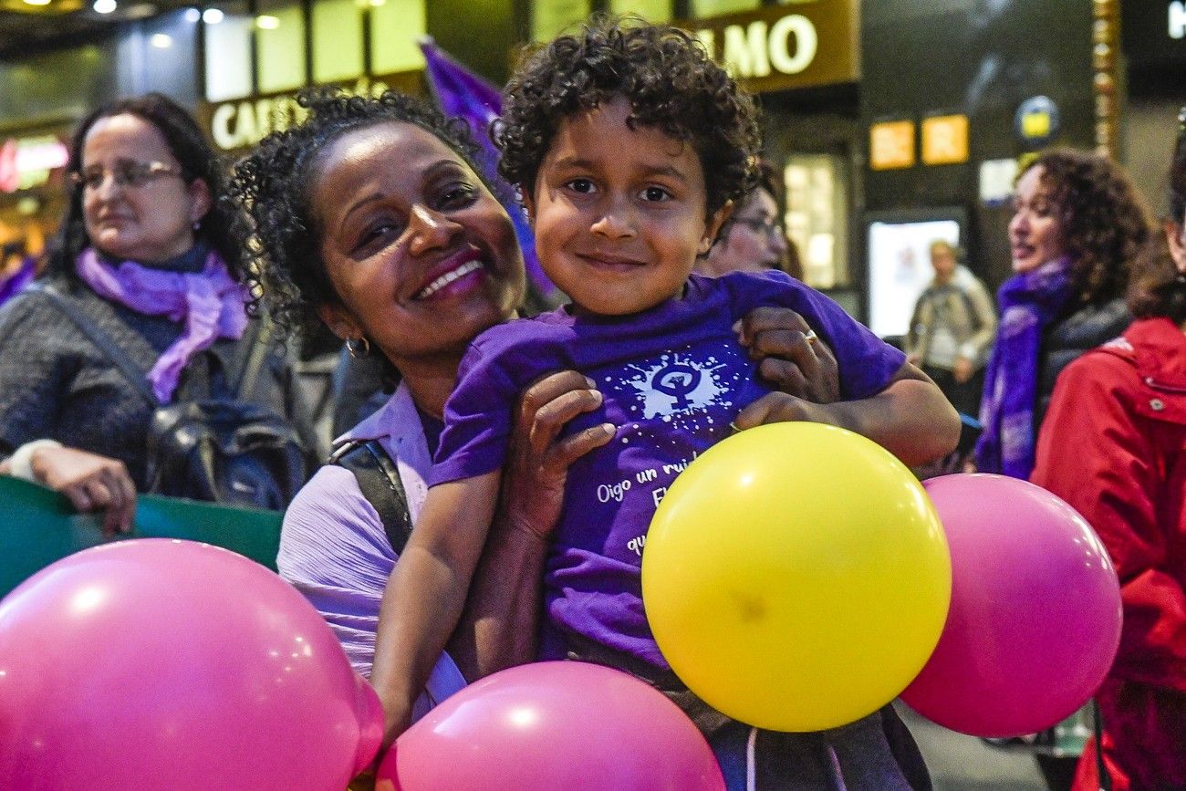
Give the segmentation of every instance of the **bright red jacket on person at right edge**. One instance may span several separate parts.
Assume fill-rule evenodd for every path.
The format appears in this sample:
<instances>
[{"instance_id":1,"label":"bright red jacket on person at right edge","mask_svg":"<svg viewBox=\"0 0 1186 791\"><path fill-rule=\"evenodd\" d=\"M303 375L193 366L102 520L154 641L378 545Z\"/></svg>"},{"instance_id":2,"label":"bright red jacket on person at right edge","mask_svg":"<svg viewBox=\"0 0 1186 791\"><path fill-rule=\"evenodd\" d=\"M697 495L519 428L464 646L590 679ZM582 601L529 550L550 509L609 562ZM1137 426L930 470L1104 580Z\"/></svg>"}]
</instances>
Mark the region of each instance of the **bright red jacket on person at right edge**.
<instances>
[{"instance_id":1,"label":"bright red jacket on person at right edge","mask_svg":"<svg viewBox=\"0 0 1186 791\"><path fill-rule=\"evenodd\" d=\"M1091 523L1120 574L1120 652L1096 695L1114 787L1186 789L1186 334L1173 321L1135 321L1059 376L1031 480ZM1075 787L1099 787L1093 744Z\"/></svg>"}]
</instances>

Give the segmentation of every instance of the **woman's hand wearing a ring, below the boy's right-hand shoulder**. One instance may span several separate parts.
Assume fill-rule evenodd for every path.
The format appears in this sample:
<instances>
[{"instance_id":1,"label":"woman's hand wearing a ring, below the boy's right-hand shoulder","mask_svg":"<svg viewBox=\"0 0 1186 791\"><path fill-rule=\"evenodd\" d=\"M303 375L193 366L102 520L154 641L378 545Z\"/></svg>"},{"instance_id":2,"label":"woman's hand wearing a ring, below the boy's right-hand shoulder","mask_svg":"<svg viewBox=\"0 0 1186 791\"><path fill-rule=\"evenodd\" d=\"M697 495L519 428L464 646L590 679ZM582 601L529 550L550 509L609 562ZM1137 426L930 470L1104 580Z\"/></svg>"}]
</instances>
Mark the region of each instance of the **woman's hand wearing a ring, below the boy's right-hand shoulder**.
<instances>
[{"instance_id":1,"label":"woman's hand wearing a ring, below the boy's right-hand shoulder","mask_svg":"<svg viewBox=\"0 0 1186 791\"><path fill-rule=\"evenodd\" d=\"M759 361L758 375L785 394L815 403L840 401L836 357L788 307L759 307L733 326L738 340Z\"/></svg>"}]
</instances>

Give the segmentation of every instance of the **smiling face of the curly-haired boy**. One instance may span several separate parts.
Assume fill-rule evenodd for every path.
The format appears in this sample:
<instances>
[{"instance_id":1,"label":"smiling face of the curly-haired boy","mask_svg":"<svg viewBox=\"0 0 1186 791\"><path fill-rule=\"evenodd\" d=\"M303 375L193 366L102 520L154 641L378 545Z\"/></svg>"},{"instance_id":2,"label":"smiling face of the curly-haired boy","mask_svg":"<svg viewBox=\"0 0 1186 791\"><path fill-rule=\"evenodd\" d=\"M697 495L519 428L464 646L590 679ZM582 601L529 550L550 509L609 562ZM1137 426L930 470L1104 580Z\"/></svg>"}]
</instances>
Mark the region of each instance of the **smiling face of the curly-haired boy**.
<instances>
[{"instance_id":1,"label":"smiling face of the curly-haired boy","mask_svg":"<svg viewBox=\"0 0 1186 791\"><path fill-rule=\"evenodd\" d=\"M626 315L678 296L727 216L706 216L691 143L626 126L616 98L560 123L533 196L540 263L574 305Z\"/></svg>"}]
</instances>

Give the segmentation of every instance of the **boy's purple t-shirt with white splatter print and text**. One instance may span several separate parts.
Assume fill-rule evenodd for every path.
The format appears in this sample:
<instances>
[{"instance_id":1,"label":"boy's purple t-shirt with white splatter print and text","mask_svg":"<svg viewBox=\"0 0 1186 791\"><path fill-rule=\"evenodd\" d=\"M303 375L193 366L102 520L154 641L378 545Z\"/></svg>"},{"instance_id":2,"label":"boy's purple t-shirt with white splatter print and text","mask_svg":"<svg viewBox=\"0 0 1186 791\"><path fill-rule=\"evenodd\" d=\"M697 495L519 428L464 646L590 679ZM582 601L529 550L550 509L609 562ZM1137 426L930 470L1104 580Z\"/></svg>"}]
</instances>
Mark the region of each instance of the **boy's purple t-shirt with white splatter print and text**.
<instances>
[{"instance_id":1,"label":"boy's purple t-shirt with white splatter print and text","mask_svg":"<svg viewBox=\"0 0 1186 791\"><path fill-rule=\"evenodd\" d=\"M691 275L683 299L629 317L560 308L484 332L445 406L429 484L502 467L519 394L542 375L575 369L604 401L568 432L617 426L614 439L568 472L546 574L551 626L667 668L643 613L640 564L655 508L681 470L732 432L769 391L733 324L759 306L797 311L828 343L841 395L882 390L905 356L823 294L780 272Z\"/></svg>"}]
</instances>

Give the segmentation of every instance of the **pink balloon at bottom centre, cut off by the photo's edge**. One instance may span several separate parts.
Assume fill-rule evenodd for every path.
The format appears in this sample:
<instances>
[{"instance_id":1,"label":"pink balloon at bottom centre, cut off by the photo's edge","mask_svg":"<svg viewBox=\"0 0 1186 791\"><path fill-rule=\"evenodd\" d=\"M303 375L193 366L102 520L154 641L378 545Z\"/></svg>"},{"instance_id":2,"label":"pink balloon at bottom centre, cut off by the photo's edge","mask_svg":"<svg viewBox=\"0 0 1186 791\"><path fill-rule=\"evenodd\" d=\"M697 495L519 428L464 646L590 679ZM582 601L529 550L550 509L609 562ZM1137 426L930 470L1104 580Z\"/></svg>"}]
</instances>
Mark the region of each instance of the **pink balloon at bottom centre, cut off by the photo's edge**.
<instances>
[{"instance_id":1,"label":"pink balloon at bottom centre, cut off by the photo's edge","mask_svg":"<svg viewBox=\"0 0 1186 791\"><path fill-rule=\"evenodd\" d=\"M503 670L395 742L377 791L723 791L708 742L675 703L582 662Z\"/></svg>"}]
</instances>

